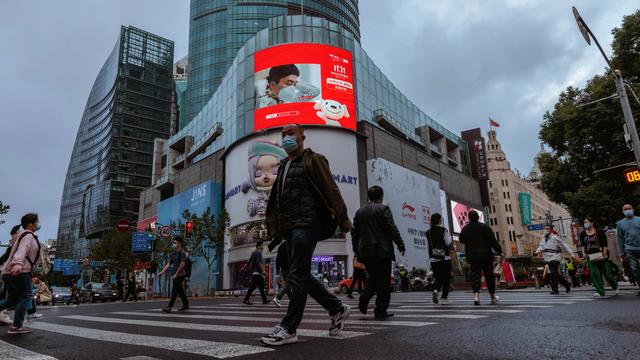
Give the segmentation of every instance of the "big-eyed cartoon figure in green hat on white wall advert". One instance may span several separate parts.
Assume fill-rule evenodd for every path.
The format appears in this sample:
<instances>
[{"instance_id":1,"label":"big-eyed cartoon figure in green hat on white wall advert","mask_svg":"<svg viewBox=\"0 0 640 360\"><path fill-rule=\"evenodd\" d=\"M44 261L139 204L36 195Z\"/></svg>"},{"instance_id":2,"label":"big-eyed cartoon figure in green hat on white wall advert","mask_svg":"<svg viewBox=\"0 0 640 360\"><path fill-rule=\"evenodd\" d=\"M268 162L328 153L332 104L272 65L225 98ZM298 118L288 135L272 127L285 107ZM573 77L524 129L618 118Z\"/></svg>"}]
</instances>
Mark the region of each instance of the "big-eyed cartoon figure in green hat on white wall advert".
<instances>
[{"instance_id":1,"label":"big-eyed cartoon figure in green hat on white wall advert","mask_svg":"<svg viewBox=\"0 0 640 360\"><path fill-rule=\"evenodd\" d=\"M249 145L249 177L242 184L242 192L253 190L256 198L247 201L249 216L265 216L271 187L278 176L278 165L287 152L277 143L256 140Z\"/></svg>"}]
</instances>

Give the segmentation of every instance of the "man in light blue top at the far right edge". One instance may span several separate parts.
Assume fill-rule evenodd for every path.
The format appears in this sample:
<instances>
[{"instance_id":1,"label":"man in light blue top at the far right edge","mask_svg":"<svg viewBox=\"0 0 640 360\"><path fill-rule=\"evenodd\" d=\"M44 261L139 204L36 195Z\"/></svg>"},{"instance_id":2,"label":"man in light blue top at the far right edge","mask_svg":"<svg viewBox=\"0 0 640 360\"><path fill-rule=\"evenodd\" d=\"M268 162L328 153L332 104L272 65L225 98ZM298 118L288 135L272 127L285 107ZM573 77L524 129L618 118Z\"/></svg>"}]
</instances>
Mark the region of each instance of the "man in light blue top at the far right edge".
<instances>
[{"instance_id":1,"label":"man in light blue top at the far right edge","mask_svg":"<svg viewBox=\"0 0 640 360\"><path fill-rule=\"evenodd\" d=\"M618 221L616 235L622 260L629 261L629 267L640 279L640 217L635 216L633 206L625 204L622 207L624 219ZM638 282L640 285L640 282ZM640 296L640 291L638 292Z\"/></svg>"}]
</instances>

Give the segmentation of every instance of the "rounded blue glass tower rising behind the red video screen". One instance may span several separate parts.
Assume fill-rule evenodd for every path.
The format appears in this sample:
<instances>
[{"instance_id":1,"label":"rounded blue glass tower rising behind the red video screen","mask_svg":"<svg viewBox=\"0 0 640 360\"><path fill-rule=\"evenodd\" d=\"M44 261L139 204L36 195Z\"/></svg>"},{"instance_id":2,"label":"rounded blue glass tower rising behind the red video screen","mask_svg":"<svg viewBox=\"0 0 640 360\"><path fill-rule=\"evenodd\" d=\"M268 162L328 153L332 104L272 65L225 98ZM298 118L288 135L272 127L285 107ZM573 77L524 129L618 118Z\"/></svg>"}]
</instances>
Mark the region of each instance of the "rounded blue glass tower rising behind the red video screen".
<instances>
[{"instance_id":1,"label":"rounded blue glass tower rising behind the red video screen","mask_svg":"<svg viewBox=\"0 0 640 360\"><path fill-rule=\"evenodd\" d=\"M342 26L360 41L357 0L191 0L189 80L180 129L209 101L238 50L269 26L269 18L301 13L309 15L308 21L312 20L311 16L319 17L316 22L322 21L320 18L331 21L334 31ZM294 25L311 26L311 23ZM289 41L301 41L300 35L300 32L281 34Z\"/></svg>"}]
</instances>

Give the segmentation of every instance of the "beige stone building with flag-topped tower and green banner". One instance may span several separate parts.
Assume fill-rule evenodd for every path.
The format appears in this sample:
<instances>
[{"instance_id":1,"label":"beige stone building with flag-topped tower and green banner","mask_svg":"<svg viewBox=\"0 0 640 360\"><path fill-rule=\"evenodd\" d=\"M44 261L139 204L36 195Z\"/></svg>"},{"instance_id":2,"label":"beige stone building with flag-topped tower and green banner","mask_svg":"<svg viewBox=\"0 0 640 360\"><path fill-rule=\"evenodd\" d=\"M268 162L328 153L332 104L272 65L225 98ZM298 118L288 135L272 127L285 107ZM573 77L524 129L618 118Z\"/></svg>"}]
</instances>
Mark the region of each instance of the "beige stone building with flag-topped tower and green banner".
<instances>
[{"instance_id":1,"label":"beige stone building with flag-topped tower and green banner","mask_svg":"<svg viewBox=\"0 0 640 360\"><path fill-rule=\"evenodd\" d=\"M572 220L567 209L551 201L537 186L537 159L533 171L523 177L511 169L497 132L488 132L489 225L507 257L533 255L544 235L541 228L553 223L560 237L575 249ZM544 150L541 150L544 151ZM536 227L537 225L537 227ZM531 227L531 230L530 230Z\"/></svg>"}]
</instances>

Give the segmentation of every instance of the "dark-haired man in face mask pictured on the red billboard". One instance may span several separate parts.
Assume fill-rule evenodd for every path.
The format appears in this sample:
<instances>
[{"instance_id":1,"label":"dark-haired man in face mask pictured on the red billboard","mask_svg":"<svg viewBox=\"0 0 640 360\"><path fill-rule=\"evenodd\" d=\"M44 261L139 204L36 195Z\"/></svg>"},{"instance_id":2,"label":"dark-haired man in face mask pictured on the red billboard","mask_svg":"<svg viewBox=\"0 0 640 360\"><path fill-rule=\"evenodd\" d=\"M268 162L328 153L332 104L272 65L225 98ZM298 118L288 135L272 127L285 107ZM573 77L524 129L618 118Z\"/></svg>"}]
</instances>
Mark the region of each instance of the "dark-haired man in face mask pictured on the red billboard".
<instances>
[{"instance_id":1,"label":"dark-haired man in face mask pictured on the red billboard","mask_svg":"<svg viewBox=\"0 0 640 360\"><path fill-rule=\"evenodd\" d=\"M257 97L256 109L292 102L313 101L320 95L320 89L307 83L298 82L300 70L294 64L274 66L269 69L267 87Z\"/></svg>"}]
</instances>

